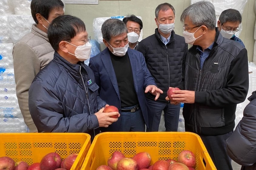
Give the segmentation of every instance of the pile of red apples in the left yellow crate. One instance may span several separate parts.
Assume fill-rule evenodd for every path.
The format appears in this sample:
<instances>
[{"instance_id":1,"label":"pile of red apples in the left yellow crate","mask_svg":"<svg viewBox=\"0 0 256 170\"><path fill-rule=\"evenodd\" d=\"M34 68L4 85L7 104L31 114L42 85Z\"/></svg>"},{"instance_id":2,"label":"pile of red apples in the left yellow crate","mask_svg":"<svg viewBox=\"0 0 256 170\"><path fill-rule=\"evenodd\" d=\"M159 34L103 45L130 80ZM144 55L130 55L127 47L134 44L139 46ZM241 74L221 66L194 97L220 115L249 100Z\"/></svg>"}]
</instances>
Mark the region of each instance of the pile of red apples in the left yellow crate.
<instances>
[{"instance_id":1,"label":"pile of red apples in the left yellow crate","mask_svg":"<svg viewBox=\"0 0 256 170\"><path fill-rule=\"evenodd\" d=\"M8 156L0 157L0 170L70 170L76 160L77 153L68 155L61 160L58 153L51 152L45 155L40 163L33 163L30 166L27 162L17 162Z\"/></svg>"}]
</instances>

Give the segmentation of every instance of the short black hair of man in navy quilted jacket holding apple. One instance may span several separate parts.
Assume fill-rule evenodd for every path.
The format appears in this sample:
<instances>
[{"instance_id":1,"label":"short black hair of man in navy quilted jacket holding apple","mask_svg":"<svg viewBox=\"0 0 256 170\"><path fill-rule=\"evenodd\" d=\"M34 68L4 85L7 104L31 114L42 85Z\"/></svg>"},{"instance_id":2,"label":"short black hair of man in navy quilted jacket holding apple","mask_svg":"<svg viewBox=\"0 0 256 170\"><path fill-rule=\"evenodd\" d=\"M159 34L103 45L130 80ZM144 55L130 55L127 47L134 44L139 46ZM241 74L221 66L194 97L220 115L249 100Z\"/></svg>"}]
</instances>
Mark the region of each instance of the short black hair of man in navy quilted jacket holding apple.
<instances>
[{"instance_id":1,"label":"short black hair of man in navy quilted jacket holding apple","mask_svg":"<svg viewBox=\"0 0 256 170\"><path fill-rule=\"evenodd\" d=\"M47 36L52 48L57 51L60 41L67 41L74 38L80 32L86 31L84 22L72 15L61 15L48 27Z\"/></svg>"}]
</instances>

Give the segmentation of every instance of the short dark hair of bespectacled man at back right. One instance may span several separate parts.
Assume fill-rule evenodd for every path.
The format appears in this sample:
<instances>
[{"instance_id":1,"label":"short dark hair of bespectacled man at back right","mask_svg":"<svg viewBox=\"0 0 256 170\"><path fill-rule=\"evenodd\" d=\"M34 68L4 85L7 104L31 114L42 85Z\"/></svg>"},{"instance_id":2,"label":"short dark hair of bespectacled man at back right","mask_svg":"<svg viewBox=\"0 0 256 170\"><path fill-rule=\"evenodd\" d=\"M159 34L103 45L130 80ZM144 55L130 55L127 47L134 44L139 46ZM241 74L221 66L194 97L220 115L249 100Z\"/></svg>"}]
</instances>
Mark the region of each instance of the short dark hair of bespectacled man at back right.
<instances>
[{"instance_id":1,"label":"short dark hair of bespectacled man at back right","mask_svg":"<svg viewBox=\"0 0 256 170\"><path fill-rule=\"evenodd\" d=\"M239 11L230 8L221 12L219 20L221 21L221 25L227 21L238 21L239 23L241 23L242 16Z\"/></svg>"}]
</instances>

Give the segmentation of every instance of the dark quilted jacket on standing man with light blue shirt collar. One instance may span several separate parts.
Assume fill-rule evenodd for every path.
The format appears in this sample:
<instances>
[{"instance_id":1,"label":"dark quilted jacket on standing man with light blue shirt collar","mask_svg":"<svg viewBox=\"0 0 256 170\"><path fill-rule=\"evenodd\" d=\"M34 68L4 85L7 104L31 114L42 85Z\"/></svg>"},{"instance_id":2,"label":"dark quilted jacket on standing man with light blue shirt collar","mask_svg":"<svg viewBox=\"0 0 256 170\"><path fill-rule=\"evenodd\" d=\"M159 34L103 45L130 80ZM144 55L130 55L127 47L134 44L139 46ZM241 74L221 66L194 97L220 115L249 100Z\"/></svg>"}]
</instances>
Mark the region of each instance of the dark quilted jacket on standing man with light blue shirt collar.
<instances>
[{"instance_id":1,"label":"dark quilted jacket on standing man with light blue shirt collar","mask_svg":"<svg viewBox=\"0 0 256 170\"><path fill-rule=\"evenodd\" d=\"M182 60L187 51L184 37L172 31L170 41L165 45L156 28L155 34L140 41L137 51L142 52L157 87L163 90L158 101L167 102L165 97L168 88L176 87L181 82ZM151 93L147 93L146 97L155 99Z\"/></svg>"}]
</instances>

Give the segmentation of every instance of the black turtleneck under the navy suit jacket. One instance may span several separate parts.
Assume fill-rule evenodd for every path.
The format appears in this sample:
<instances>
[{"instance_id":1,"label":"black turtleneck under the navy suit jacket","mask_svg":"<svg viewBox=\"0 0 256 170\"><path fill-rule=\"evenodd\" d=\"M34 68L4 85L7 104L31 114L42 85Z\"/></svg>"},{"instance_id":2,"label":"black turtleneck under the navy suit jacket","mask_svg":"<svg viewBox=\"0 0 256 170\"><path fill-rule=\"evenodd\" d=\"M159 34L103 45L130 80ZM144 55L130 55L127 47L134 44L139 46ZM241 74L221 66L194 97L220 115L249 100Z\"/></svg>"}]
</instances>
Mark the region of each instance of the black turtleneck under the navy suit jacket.
<instances>
[{"instance_id":1,"label":"black turtleneck under the navy suit jacket","mask_svg":"<svg viewBox=\"0 0 256 170\"><path fill-rule=\"evenodd\" d=\"M138 98L133 84L133 73L128 53L122 57L115 56L109 51L112 65L116 73L119 88L121 107L129 107L138 104Z\"/></svg>"}]
</instances>

